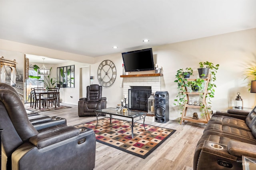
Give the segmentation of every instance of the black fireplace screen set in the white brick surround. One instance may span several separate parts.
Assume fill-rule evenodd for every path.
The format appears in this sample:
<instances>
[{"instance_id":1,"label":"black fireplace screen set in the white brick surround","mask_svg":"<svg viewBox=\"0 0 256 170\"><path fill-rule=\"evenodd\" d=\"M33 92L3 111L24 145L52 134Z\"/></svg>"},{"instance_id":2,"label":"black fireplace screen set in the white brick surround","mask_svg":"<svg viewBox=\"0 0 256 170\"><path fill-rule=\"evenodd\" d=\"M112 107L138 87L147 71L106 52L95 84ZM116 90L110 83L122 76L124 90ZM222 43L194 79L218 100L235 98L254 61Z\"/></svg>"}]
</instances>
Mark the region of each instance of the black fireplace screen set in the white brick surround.
<instances>
[{"instance_id":1,"label":"black fireplace screen set in the white brick surround","mask_svg":"<svg viewBox=\"0 0 256 170\"><path fill-rule=\"evenodd\" d=\"M151 88L151 87L150 87ZM129 89L129 109L148 110L148 98L151 89Z\"/></svg>"}]
</instances>

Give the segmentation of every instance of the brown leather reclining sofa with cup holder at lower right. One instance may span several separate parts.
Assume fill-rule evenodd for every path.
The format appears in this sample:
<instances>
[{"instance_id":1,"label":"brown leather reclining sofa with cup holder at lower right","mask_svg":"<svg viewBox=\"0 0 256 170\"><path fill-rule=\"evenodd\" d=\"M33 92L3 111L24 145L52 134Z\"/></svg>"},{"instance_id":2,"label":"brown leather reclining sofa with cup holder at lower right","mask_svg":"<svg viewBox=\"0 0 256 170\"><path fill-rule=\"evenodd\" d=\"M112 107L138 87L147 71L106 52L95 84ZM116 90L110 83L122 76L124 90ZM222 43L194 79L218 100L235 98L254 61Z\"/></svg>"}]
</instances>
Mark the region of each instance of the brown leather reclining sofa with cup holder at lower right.
<instances>
[{"instance_id":1,"label":"brown leather reclining sofa with cup holder at lower right","mask_svg":"<svg viewBox=\"0 0 256 170\"><path fill-rule=\"evenodd\" d=\"M194 153L194 170L242 170L242 156L256 159L256 107L216 111Z\"/></svg>"}]
</instances>

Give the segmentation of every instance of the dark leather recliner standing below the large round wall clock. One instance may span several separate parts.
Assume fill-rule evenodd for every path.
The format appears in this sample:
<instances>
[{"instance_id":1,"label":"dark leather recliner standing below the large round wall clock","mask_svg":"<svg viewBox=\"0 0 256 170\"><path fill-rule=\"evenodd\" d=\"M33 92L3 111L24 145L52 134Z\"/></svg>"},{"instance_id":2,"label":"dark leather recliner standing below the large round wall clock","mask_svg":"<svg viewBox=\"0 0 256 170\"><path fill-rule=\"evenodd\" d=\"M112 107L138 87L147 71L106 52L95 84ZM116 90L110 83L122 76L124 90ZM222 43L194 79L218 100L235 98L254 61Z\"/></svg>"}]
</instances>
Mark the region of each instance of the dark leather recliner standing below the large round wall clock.
<instances>
[{"instance_id":1,"label":"dark leather recliner standing below the large round wall clock","mask_svg":"<svg viewBox=\"0 0 256 170\"><path fill-rule=\"evenodd\" d=\"M107 98L102 97L102 86L91 84L86 87L86 98L78 101L78 116L96 116L95 110L106 109ZM106 114L104 114L106 115Z\"/></svg>"}]
</instances>

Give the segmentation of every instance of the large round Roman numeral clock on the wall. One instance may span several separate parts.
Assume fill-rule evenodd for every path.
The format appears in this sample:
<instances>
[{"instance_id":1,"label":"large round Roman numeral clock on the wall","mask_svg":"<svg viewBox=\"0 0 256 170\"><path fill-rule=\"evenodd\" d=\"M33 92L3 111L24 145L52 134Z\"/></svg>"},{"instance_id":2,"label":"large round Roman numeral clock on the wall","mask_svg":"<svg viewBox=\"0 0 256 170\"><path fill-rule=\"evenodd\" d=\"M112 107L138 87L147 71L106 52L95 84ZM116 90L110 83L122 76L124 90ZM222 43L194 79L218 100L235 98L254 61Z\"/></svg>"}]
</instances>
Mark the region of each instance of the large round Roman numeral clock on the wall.
<instances>
[{"instance_id":1,"label":"large round Roman numeral clock on the wall","mask_svg":"<svg viewBox=\"0 0 256 170\"><path fill-rule=\"evenodd\" d=\"M103 87L111 86L116 80L116 66L110 60L104 60L98 67L97 77Z\"/></svg>"}]
</instances>

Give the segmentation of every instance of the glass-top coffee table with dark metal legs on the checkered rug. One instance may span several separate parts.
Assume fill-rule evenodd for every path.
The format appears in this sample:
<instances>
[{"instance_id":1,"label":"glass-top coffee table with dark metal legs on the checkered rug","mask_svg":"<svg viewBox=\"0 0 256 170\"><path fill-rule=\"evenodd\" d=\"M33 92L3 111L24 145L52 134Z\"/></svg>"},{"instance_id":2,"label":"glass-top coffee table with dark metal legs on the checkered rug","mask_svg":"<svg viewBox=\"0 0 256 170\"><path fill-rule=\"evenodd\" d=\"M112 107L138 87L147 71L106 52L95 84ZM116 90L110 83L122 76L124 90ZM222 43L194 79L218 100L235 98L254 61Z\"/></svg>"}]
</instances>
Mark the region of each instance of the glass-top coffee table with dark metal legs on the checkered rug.
<instances>
[{"instance_id":1,"label":"glass-top coffee table with dark metal legs on the checkered rug","mask_svg":"<svg viewBox=\"0 0 256 170\"><path fill-rule=\"evenodd\" d=\"M133 138L133 127L134 127L134 124L136 123L136 121L143 119L143 125L144 125L144 129L146 131L145 124L144 124L145 123L145 117L146 117L146 114L147 114L146 112L127 110L126 113L123 113L122 111L121 112L116 111L116 108L110 107L110 108L106 108L106 109L95 110L95 113L96 113L96 117L97 117L97 124L96 124L95 127L97 127L97 125L98 125L98 116L108 117L106 115L101 115L101 113L106 113L106 114L109 115L110 123L111 123L111 119L112 119L113 115L121 117L121 118L116 118L116 117L114 118L114 119L118 119L118 120L124 120L124 119L122 119L122 117L131 118L132 119L132 124L130 123L130 121L127 121L127 120L124 120L124 121L127 121L131 125L132 138ZM140 117L140 118L137 119L136 121L134 121L134 118L136 118L136 117Z\"/></svg>"}]
</instances>

